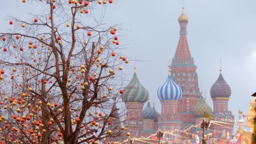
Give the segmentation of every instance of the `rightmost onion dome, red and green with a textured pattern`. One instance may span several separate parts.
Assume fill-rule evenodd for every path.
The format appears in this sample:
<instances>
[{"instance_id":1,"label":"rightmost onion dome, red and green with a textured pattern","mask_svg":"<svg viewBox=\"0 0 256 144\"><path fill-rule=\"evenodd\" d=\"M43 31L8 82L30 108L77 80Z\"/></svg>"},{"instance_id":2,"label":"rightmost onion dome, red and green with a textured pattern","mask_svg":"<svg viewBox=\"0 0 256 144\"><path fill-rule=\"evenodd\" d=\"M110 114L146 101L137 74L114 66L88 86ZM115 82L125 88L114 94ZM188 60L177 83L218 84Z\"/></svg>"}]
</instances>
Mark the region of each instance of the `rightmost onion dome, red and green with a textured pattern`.
<instances>
[{"instance_id":1,"label":"rightmost onion dome, red and green with a textured pattern","mask_svg":"<svg viewBox=\"0 0 256 144\"><path fill-rule=\"evenodd\" d=\"M228 98L231 95L231 88L229 84L224 80L222 76L222 69L219 70L219 78L211 87L211 97L225 97Z\"/></svg>"}]
</instances>

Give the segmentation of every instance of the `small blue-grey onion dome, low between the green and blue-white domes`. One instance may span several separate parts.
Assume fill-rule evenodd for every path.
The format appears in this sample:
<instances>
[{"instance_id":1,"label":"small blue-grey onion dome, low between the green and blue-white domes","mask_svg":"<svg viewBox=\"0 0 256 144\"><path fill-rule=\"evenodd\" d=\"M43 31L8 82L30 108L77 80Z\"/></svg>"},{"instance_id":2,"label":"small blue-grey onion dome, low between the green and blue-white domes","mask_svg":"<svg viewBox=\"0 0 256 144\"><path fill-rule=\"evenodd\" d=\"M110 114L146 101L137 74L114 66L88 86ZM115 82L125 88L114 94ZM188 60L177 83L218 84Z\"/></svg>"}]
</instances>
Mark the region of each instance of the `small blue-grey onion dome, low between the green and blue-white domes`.
<instances>
[{"instance_id":1,"label":"small blue-grey onion dome, low between the green and blue-white domes","mask_svg":"<svg viewBox=\"0 0 256 144\"><path fill-rule=\"evenodd\" d=\"M141 113L141 117L144 118L144 119L154 119L154 120L157 120L157 112L155 110L155 107L153 106L153 108L150 106L150 102L149 102L149 99L148 99L148 102L147 102L147 107L145 107L145 109L142 110L142 113Z\"/></svg>"}]
</instances>

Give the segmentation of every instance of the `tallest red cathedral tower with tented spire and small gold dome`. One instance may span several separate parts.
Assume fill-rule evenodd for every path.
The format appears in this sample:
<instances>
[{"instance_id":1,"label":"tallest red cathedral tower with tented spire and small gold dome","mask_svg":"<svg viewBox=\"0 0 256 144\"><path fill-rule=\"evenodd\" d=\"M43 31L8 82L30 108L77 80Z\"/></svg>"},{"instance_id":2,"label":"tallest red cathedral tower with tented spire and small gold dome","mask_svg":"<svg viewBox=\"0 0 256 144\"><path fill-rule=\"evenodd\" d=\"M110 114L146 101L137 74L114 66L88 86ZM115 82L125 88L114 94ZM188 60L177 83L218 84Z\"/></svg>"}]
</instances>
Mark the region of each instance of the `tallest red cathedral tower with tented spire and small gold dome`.
<instances>
[{"instance_id":1,"label":"tallest red cathedral tower with tented spire and small gold dome","mask_svg":"<svg viewBox=\"0 0 256 144\"><path fill-rule=\"evenodd\" d=\"M171 65L173 80L182 89L182 97L179 101L179 115L181 116L184 128L195 124L195 117L192 115L192 108L200 99L196 65L189 51L187 42L187 24L189 18L186 16L184 8L179 16L180 37L179 43L172 59Z\"/></svg>"}]
</instances>

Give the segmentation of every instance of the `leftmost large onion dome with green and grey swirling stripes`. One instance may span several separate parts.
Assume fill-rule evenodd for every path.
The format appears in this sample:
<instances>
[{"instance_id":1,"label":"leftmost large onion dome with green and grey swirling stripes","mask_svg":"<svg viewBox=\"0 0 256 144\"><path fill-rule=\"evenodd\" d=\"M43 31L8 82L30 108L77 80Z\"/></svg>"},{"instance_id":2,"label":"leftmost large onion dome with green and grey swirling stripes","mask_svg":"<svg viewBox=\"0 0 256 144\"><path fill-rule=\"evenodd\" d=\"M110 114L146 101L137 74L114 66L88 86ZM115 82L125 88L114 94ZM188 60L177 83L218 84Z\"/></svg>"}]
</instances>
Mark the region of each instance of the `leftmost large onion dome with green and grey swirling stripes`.
<instances>
[{"instance_id":1,"label":"leftmost large onion dome with green and grey swirling stripes","mask_svg":"<svg viewBox=\"0 0 256 144\"><path fill-rule=\"evenodd\" d=\"M133 78L126 86L122 99L124 102L146 102L149 92L144 88L136 76L136 67L134 67Z\"/></svg>"}]
</instances>

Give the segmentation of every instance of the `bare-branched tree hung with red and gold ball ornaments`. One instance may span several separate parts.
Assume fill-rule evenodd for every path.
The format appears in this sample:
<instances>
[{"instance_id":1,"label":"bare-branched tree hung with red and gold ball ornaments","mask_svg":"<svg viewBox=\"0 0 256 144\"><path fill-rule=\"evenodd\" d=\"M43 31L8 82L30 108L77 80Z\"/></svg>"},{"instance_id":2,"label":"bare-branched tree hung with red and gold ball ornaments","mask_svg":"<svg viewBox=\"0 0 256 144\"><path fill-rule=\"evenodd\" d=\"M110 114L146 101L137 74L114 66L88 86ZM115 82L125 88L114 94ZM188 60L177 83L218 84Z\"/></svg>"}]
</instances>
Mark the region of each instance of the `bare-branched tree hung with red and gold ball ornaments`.
<instances>
[{"instance_id":1,"label":"bare-branched tree hung with red and gold ball ornaments","mask_svg":"<svg viewBox=\"0 0 256 144\"><path fill-rule=\"evenodd\" d=\"M128 63L117 26L88 22L113 0L39 1L40 14L10 17L12 28L0 33L0 143L97 144L129 135L117 126Z\"/></svg>"}]
</instances>

